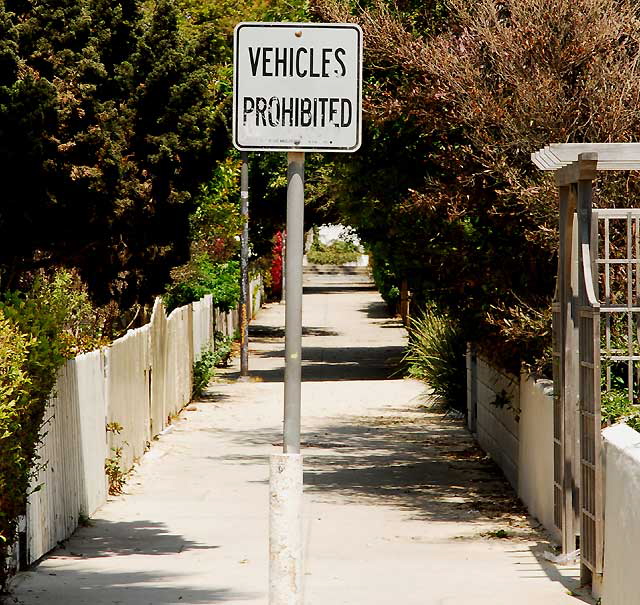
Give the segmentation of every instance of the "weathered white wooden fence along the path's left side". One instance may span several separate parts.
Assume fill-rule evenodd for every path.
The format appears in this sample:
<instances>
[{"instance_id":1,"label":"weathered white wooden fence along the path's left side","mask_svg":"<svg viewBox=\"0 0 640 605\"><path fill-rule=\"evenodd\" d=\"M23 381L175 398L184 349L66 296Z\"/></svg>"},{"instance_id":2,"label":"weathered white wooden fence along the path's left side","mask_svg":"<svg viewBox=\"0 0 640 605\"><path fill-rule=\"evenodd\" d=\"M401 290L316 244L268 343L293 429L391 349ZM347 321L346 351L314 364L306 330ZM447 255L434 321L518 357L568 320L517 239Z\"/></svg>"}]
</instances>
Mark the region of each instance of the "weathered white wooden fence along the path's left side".
<instances>
[{"instance_id":1,"label":"weathered white wooden fence along the path's left side","mask_svg":"<svg viewBox=\"0 0 640 605\"><path fill-rule=\"evenodd\" d=\"M261 280L252 280L251 316L261 289ZM232 336L237 329L238 313L220 312L211 296L168 317L157 299L150 323L64 365L42 429L42 468L29 496L23 561L55 548L81 515L106 502L105 460L119 454L120 468L130 469L189 402L193 362L212 346L214 330Z\"/></svg>"}]
</instances>

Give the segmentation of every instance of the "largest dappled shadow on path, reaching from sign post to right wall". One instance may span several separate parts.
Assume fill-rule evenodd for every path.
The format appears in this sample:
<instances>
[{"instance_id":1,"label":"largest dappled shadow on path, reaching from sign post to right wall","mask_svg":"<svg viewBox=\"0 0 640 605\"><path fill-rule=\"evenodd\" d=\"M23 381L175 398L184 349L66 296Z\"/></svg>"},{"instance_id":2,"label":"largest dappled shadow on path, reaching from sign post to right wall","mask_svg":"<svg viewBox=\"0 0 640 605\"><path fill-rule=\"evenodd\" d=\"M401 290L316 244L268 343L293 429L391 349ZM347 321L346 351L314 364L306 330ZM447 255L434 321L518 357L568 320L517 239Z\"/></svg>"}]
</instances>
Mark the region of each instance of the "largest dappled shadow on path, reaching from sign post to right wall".
<instances>
[{"instance_id":1,"label":"largest dappled shadow on path, reaching from sign post to right wall","mask_svg":"<svg viewBox=\"0 0 640 605\"><path fill-rule=\"evenodd\" d=\"M281 445L281 433L235 436L243 445ZM388 505L429 521L525 519L498 467L463 423L424 417L344 417L304 433L305 489L314 499ZM225 457L252 463L250 456Z\"/></svg>"}]
</instances>

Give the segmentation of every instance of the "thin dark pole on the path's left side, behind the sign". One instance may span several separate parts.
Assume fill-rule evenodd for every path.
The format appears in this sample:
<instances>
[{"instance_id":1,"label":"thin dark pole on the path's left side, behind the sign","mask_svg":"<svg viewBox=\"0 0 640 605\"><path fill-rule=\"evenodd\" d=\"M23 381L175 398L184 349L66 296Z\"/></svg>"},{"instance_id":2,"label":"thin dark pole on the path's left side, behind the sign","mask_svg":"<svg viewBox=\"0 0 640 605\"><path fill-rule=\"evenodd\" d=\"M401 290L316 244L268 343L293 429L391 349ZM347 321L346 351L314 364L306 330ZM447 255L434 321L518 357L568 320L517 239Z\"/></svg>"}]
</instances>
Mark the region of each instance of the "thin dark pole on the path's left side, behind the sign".
<instances>
[{"instance_id":1,"label":"thin dark pole on the path's left side, behind the sign","mask_svg":"<svg viewBox=\"0 0 640 605\"><path fill-rule=\"evenodd\" d=\"M249 376L249 154L240 153L240 216L242 234L240 236L240 376Z\"/></svg>"}]
</instances>

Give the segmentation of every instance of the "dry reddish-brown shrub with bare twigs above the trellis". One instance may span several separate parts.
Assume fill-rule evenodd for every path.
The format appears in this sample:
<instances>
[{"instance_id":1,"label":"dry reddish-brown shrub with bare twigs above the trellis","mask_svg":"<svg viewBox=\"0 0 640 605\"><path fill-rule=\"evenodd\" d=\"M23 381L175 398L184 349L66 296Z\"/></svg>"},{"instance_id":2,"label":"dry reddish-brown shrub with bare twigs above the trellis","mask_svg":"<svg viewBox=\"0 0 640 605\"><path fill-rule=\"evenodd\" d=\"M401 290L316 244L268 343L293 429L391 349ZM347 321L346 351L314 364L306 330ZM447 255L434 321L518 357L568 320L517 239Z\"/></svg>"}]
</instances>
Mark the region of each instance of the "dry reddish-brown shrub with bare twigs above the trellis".
<instances>
[{"instance_id":1,"label":"dry reddish-brown shrub with bare twigs above the trellis","mask_svg":"<svg viewBox=\"0 0 640 605\"><path fill-rule=\"evenodd\" d=\"M553 274L556 191L530 154L552 142L640 140L640 7L633 0L446 5L447 22L435 32L416 31L383 0L355 11L339 0L315 8L323 19L356 19L363 27L366 118L410 121L439 141L430 161L447 178L425 175L422 187L403 194L405 207L452 222L481 213L487 229L517 239L531 261L523 271ZM635 174L609 175L598 184L596 203L637 205L639 193ZM496 253L488 263L500 263ZM443 282L454 262L444 266ZM509 283L500 267L494 270ZM509 354L525 342L540 354L532 328L548 316L551 288L517 287L505 300L483 301L491 308L486 325L509 341Z\"/></svg>"}]
</instances>

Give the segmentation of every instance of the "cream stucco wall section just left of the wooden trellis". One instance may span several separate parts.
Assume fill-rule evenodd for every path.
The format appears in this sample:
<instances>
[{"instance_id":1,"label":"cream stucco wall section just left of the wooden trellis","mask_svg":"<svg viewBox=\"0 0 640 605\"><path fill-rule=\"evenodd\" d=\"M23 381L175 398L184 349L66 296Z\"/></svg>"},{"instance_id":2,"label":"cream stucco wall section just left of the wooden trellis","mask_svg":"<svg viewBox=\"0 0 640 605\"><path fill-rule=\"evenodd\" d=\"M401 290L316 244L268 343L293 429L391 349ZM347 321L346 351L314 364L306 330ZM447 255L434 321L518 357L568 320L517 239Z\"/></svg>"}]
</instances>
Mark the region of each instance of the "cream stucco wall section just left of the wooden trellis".
<instances>
[{"instance_id":1,"label":"cream stucco wall section just left of the wooden trellis","mask_svg":"<svg viewBox=\"0 0 640 605\"><path fill-rule=\"evenodd\" d=\"M518 496L560 541L553 525L553 382L520 378Z\"/></svg>"}]
</instances>

